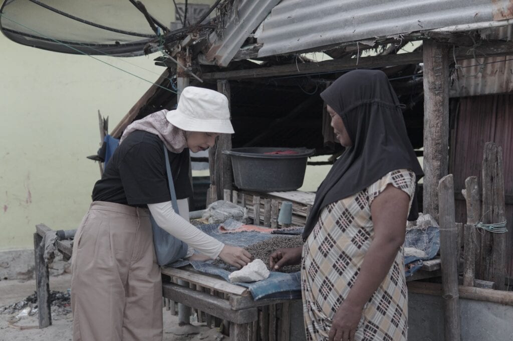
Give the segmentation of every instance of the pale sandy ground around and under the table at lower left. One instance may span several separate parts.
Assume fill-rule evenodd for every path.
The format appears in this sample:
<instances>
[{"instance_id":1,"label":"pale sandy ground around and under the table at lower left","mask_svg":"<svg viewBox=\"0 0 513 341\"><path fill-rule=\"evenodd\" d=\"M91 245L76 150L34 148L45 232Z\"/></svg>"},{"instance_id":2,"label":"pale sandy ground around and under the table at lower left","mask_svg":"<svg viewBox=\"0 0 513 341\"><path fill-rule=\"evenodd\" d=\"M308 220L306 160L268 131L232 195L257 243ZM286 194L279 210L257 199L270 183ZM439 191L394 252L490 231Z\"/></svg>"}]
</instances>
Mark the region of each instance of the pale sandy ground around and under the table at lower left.
<instances>
[{"instance_id":1,"label":"pale sandy ground around and under the table at lower left","mask_svg":"<svg viewBox=\"0 0 513 341\"><path fill-rule=\"evenodd\" d=\"M71 275L64 274L50 278L50 289L66 291L70 287ZM0 307L10 305L24 300L35 291L35 281L0 281ZM72 339L73 317L70 314L52 314L52 325L44 328L37 328L37 314L27 316L10 326L8 321L15 314L0 314L0 341L15 340L38 340L38 341L68 341ZM29 328L29 329L20 329ZM164 340L185 341L185 340L221 340L223 337L216 329L210 329L205 324L194 324L193 333L177 335L184 332L183 327L178 327L178 318L164 310Z\"/></svg>"}]
</instances>

